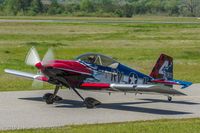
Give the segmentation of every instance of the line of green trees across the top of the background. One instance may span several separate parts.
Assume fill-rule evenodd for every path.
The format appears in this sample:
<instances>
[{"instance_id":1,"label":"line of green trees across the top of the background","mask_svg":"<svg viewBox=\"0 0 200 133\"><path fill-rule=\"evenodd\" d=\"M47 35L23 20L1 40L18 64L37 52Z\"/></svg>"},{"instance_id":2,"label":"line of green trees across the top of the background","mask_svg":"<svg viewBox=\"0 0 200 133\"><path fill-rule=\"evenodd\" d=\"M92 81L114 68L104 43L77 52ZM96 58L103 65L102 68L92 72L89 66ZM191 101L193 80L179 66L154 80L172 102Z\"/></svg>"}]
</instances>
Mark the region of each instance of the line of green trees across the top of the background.
<instances>
[{"instance_id":1,"label":"line of green trees across the top of the background","mask_svg":"<svg viewBox=\"0 0 200 133\"><path fill-rule=\"evenodd\" d=\"M0 15L200 16L200 0L0 0Z\"/></svg>"}]
</instances>

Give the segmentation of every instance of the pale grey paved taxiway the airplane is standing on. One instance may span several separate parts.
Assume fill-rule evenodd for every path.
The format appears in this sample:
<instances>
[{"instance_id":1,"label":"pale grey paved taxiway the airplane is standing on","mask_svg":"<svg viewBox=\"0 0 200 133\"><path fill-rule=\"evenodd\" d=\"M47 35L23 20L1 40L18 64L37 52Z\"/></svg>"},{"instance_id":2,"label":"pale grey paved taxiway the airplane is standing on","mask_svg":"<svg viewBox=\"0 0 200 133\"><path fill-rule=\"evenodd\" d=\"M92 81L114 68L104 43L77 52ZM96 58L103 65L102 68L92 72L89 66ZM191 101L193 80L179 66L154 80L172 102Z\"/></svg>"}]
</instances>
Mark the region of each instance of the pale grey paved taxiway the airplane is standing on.
<instances>
[{"instance_id":1,"label":"pale grey paved taxiway the airplane is standing on","mask_svg":"<svg viewBox=\"0 0 200 133\"><path fill-rule=\"evenodd\" d=\"M200 117L200 84L182 92L188 96L174 97L169 103L165 96L81 91L83 96L100 100L102 105L86 109L72 91L63 89L63 101L46 105L43 91L0 93L0 129L38 128L68 124L108 123L161 118Z\"/></svg>"}]
</instances>

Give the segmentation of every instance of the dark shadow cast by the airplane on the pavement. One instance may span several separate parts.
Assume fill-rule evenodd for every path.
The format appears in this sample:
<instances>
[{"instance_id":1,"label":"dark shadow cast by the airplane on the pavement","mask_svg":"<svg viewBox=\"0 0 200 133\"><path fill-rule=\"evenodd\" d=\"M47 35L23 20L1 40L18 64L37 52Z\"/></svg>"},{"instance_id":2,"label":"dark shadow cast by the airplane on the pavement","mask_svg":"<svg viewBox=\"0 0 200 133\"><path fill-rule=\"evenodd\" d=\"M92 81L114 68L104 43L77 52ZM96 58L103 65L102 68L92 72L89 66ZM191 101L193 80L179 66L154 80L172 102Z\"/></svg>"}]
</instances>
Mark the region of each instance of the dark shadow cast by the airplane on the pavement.
<instances>
[{"instance_id":1,"label":"dark shadow cast by the airplane on the pavement","mask_svg":"<svg viewBox=\"0 0 200 133\"><path fill-rule=\"evenodd\" d=\"M19 98L19 99L43 102L42 97L28 97L28 98ZM158 99L141 99L141 100L146 100L146 102L143 101L143 102L125 102L125 103L103 103L101 105L98 105L96 108L113 109L113 110L130 111L130 112L150 113L150 114L158 114L158 115L192 114L191 112L132 106L132 105L137 105L137 104L166 102L164 100L158 100ZM181 101L173 101L172 103L176 103L176 104L199 104L199 103L184 102L184 101L182 101L182 102ZM57 108L84 108L85 106L83 105L82 101L63 99L61 101L56 102L55 107L57 107Z\"/></svg>"}]
</instances>

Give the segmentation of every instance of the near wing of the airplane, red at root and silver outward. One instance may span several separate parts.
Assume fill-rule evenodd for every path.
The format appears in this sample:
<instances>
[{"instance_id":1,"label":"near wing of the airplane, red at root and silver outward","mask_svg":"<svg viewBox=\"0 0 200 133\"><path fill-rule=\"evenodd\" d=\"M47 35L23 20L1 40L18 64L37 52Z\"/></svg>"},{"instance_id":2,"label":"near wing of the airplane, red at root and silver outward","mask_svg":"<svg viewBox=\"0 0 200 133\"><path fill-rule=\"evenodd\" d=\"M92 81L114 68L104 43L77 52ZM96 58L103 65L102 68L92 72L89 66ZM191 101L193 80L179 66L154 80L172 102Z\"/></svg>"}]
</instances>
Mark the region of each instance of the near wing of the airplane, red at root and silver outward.
<instances>
[{"instance_id":1,"label":"near wing of the airplane, red at root and silver outward","mask_svg":"<svg viewBox=\"0 0 200 133\"><path fill-rule=\"evenodd\" d=\"M184 93L167 86L148 84L109 84L109 83L83 83L80 88L91 90L110 90L130 93L159 93L167 95L185 95Z\"/></svg>"}]
</instances>

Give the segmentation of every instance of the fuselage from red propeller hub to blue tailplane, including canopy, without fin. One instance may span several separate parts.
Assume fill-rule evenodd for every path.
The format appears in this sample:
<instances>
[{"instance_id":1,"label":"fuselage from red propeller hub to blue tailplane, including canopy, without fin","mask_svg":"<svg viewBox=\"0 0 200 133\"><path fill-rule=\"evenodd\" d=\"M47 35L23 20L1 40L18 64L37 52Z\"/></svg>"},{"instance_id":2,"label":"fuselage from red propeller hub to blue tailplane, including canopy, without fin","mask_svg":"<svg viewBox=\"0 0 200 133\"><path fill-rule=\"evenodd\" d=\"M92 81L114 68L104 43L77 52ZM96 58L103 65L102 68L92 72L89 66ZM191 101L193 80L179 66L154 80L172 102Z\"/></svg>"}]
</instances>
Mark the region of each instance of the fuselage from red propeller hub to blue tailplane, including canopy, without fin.
<instances>
[{"instance_id":1,"label":"fuselage from red propeller hub to blue tailplane, including canopy, without fin","mask_svg":"<svg viewBox=\"0 0 200 133\"><path fill-rule=\"evenodd\" d=\"M80 89L82 83L156 84L168 88L173 85L182 85L182 88L191 85L191 82L181 80L155 79L110 57L94 53L81 55L76 60L52 60L45 65L37 63L36 67L49 79L49 83L70 84Z\"/></svg>"}]
</instances>

